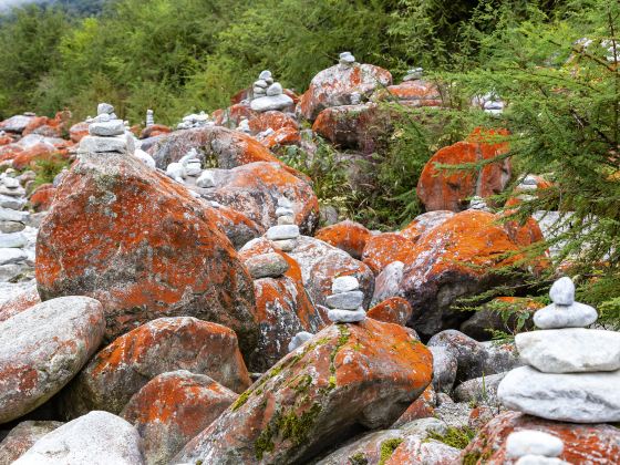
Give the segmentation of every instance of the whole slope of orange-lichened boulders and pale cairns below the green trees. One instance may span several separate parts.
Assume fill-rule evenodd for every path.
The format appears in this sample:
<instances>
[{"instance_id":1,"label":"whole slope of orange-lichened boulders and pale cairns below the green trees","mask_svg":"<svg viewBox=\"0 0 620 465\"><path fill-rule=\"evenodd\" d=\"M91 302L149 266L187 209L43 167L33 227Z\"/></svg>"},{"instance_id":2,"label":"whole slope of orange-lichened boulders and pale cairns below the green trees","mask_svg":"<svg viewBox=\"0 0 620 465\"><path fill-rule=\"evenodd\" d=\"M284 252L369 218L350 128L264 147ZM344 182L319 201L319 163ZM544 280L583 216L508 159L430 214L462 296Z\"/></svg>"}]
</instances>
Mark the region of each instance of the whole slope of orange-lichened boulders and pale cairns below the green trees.
<instances>
[{"instance_id":1,"label":"whole slope of orange-lichened boulders and pale cairns below the green trees","mask_svg":"<svg viewBox=\"0 0 620 465\"><path fill-rule=\"evenodd\" d=\"M548 266L521 248L557 213L502 223L489 199L509 158L436 167L507 143L478 130L438 151L426 213L383 232L333 218L275 155L320 135L368 156L386 100L442 105L420 70L394 84L343 53L303 95L266 71L175 130L108 104L0 123L0 464L618 463L620 338L587 328L570 279L544 309L455 309ZM71 168L41 185L52 157ZM547 186L528 175L508 205ZM538 331L490 341L519 324L497 303Z\"/></svg>"}]
</instances>

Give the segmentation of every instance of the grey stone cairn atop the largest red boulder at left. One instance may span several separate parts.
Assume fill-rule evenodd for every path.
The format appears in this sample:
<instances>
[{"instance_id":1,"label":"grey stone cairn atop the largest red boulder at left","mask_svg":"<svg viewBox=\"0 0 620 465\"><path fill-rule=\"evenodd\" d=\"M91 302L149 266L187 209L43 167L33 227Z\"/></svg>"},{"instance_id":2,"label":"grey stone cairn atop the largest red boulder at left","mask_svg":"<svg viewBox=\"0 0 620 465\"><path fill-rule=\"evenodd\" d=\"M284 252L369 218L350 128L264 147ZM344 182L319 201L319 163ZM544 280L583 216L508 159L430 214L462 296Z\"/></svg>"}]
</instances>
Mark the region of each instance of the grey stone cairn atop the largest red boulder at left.
<instances>
[{"instance_id":1,"label":"grey stone cairn atop the largest red boulder at left","mask_svg":"<svg viewBox=\"0 0 620 465\"><path fill-rule=\"evenodd\" d=\"M135 141L126 132L125 122L118 120L114 106L100 103L97 115L89 118L89 134L80 141L78 153L121 153L133 154Z\"/></svg>"}]
</instances>

